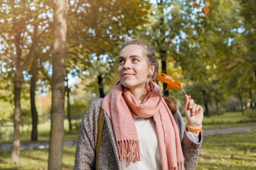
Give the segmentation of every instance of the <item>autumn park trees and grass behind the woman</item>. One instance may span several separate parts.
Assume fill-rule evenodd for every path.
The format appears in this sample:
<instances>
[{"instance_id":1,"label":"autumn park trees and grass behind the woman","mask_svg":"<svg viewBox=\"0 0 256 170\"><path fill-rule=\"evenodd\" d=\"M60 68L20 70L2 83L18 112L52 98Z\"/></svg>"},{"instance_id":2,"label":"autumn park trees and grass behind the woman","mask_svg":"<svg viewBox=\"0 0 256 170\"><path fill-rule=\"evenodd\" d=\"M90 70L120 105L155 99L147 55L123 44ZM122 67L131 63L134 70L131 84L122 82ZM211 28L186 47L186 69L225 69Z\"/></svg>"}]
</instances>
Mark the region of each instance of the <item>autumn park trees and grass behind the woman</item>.
<instances>
[{"instance_id":1,"label":"autumn park trees and grass behind the woman","mask_svg":"<svg viewBox=\"0 0 256 170\"><path fill-rule=\"evenodd\" d=\"M187 82L204 130L256 126L255 0L0 2L0 169L73 169L81 118L111 92L120 47L134 38L151 44L162 73ZM183 113L183 91L164 94ZM255 139L253 129L205 135L197 170L255 170Z\"/></svg>"}]
</instances>

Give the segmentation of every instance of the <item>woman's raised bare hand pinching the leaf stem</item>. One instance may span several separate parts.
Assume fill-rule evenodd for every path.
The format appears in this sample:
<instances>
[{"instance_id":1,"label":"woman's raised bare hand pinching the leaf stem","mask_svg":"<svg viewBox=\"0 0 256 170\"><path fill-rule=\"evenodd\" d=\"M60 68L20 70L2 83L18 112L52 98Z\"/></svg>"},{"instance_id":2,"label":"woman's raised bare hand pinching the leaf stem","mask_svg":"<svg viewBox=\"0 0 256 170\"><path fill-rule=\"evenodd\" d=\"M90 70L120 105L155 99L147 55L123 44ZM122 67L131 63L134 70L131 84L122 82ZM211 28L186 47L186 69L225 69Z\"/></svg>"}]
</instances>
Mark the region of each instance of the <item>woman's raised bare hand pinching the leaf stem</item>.
<instances>
[{"instance_id":1,"label":"woman's raised bare hand pinching the leaf stem","mask_svg":"<svg viewBox=\"0 0 256 170\"><path fill-rule=\"evenodd\" d=\"M188 121L188 126L195 128L201 127L204 118L204 110L202 106L194 103L194 100L191 99L191 96L185 95L184 113Z\"/></svg>"}]
</instances>

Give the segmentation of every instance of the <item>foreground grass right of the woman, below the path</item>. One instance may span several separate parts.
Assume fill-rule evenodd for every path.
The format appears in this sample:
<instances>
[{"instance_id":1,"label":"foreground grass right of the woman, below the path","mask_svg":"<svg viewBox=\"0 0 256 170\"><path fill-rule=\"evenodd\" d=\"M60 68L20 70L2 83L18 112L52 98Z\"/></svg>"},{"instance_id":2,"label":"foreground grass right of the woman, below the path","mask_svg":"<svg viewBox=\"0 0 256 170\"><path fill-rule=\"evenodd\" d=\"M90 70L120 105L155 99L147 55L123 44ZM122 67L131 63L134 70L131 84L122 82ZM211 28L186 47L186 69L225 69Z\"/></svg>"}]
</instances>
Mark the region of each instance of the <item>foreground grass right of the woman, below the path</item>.
<instances>
[{"instance_id":1,"label":"foreground grass right of the woman, below the path","mask_svg":"<svg viewBox=\"0 0 256 170\"><path fill-rule=\"evenodd\" d=\"M196 170L256 170L256 130L204 136Z\"/></svg>"}]
</instances>

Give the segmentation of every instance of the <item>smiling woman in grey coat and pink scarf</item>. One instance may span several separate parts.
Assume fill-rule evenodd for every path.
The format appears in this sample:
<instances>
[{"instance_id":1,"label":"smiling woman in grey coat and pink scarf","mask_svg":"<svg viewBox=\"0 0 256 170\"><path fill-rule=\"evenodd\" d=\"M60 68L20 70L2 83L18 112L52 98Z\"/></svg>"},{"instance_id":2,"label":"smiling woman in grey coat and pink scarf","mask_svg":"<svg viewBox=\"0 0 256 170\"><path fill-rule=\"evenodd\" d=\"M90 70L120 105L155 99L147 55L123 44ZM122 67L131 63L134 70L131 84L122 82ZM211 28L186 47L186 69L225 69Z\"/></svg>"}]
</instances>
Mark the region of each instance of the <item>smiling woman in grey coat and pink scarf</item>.
<instances>
[{"instance_id":1,"label":"smiling woman in grey coat and pink scarf","mask_svg":"<svg viewBox=\"0 0 256 170\"><path fill-rule=\"evenodd\" d=\"M155 82L152 48L128 40L119 54L119 81L111 94L91 103L81 122L75 170L96 168L101 108L105 123L99 170L194 170L201 152L203 108L185 95L184 122L173 98L163 98ZM177 113L175 113L177 112Z\"/></svg>"}]
</instances>

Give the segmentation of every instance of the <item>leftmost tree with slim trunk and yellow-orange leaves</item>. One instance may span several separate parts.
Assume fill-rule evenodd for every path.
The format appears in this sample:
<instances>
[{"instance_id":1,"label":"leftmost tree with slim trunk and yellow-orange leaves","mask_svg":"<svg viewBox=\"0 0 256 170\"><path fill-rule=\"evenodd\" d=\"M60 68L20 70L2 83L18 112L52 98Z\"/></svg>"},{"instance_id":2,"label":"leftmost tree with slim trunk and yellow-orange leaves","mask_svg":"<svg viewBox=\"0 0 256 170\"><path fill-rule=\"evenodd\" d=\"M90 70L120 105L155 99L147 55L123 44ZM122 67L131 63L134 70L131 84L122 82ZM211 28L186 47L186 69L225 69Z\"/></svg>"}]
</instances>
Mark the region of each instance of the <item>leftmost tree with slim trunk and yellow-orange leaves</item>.
<instances>
[{"instance_id":1,"label":"leftmost tree with slim trunk and yellow-orange leaves","mask_svg":"<svg viewBox=\"0 0 256 170\"><path fill-rule=\"evenodd\" d=\"M6 63L4 74L14 79L14 141L12 161L19 161L20 150L20 93L23 71L30 65L31 58L41 35L47 30L47 24L41 21L41 7L26 1L6 1L1 8L1 55ZM48 19L48 17L45 17ZM10 74L15 72L15 74Z\"/></svg>"}]
</instances>

